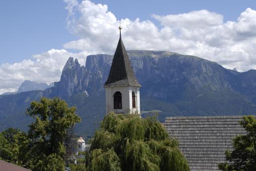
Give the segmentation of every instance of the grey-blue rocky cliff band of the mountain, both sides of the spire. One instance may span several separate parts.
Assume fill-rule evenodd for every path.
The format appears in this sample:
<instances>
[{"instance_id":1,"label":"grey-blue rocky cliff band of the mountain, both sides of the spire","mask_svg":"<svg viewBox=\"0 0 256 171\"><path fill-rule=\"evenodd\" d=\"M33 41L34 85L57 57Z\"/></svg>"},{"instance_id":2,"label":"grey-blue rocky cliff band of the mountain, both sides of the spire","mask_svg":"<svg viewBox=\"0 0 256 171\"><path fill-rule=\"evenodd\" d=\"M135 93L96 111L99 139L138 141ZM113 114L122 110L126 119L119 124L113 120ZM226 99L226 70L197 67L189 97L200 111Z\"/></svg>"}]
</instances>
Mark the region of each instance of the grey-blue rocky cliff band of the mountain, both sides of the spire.
<instances>
[{"instance_id":1,"label":"grey-blue rocky cliff band of the mountain, both sides of the spire","mask_svg":"<svg viewBox=\"0 0 256 171\"><path fill-rule=\"evenodd\" d=\"M215 62L170 52L128 51L128 54L144 96L175 101L185 90L242 89L239 83L234 83L235 80L243 80L242 74L229 71ZM77 60L69 58L60 81L49 90L51 96L67 98L84 91L91 96L100 95L112 59L111 55L91 55L87 57L86 66L80 66Z\"/></svg>"}]
</instances>

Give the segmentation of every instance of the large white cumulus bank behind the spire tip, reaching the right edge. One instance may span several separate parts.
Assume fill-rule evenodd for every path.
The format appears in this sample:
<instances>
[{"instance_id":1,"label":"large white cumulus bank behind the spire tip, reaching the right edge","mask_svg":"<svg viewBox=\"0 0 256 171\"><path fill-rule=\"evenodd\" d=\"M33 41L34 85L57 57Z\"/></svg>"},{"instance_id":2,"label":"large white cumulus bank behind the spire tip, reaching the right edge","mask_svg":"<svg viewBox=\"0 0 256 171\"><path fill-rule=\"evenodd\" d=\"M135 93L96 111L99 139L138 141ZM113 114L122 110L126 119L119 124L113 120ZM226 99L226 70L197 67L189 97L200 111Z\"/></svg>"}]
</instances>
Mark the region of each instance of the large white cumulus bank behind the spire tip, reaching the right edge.
<instances>
[{"instance_id":1,"label":"large white cumulus bank behind the spire tip, reaching the right edge","mask_svg":"<svg viewBox=\"0 0 256 171\"><path fill-rule=\"evenodd\" d=\"M72 10L68 17L72 25L68 27L79 39L64 47L89 54L113 54L119 36L118 20L108 6L86 0L72 6ZM126 49L172 51L240 71L256 69L255 10L247 8L237 21L226 22L221 14L208 10L152 17L160 22L160 28L151 20L121 19Z\"/></svg>"}]
</instances>

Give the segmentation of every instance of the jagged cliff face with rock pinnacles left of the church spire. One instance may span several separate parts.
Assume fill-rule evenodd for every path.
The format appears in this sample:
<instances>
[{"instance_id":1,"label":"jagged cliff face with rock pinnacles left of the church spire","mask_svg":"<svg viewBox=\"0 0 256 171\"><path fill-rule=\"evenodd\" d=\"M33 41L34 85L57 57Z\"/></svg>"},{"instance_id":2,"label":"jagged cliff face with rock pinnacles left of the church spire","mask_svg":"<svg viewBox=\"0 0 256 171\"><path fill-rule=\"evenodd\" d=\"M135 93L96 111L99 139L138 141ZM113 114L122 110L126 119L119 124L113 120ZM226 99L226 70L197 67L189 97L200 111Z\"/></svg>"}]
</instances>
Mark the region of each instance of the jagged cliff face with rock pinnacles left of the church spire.
<instances>
[{"instance_id":1,"label":"jagged cliff face with rock pinnacles left of the church spire","mask_svg":"<svg viewBox=\"0 0 256 171\"><path fill-rule=\"evenodd\" d=\"M62 70L60 81L48 89L47 94L63 99L80 92L100 95L105 78L108 77L111 59L111 55L90 55L87 57L86 66L80 66L77 59L70 57Z\"/></svg>"}]
</instances>

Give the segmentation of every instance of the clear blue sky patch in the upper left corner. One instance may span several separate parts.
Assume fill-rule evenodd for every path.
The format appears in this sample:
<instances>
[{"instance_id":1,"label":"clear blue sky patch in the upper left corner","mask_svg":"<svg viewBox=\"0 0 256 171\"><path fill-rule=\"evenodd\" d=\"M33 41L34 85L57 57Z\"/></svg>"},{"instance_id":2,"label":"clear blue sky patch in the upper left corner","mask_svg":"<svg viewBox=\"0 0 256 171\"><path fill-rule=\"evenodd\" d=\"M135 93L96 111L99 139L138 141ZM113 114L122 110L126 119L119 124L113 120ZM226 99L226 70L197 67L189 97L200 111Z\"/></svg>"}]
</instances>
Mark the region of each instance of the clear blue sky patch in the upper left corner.
<instances>
[{"instance_id":1,"label":"clear blue sky patch in the upper left corner","mask_svg":"<svg viewBox=\"0 0 256 171\"><path fill-rule=\"evenodd\" d=\"M62 48L73 36L66 29L62 1L0 2L0 64L31 59L33 54Z\"/></svg>"}]
</instances>

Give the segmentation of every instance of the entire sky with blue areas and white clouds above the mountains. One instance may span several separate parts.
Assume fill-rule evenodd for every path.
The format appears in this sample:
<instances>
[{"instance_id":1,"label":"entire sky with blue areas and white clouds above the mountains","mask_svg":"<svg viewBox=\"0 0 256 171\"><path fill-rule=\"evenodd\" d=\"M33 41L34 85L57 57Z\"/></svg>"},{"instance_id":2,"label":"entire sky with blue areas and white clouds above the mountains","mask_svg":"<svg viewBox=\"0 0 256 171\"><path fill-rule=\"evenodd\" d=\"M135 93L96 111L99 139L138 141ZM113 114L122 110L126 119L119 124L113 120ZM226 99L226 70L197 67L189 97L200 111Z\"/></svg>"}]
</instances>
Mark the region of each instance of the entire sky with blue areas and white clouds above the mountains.
<instances>
[{"instance_id":1,"label":"entire sky with blue areas and white clouds above the mountains","mask_svg":"<svg viewBox=\"0 0 256 171\"><path fill-rule=\"evenodd\" d=\"M100 4L99 4L100 3ZM256 1L0 1L0 94L58 81L67 59L127 50L195 55L256 69Z\"/></svg>"}]
</instances>

